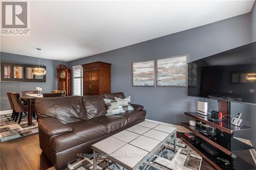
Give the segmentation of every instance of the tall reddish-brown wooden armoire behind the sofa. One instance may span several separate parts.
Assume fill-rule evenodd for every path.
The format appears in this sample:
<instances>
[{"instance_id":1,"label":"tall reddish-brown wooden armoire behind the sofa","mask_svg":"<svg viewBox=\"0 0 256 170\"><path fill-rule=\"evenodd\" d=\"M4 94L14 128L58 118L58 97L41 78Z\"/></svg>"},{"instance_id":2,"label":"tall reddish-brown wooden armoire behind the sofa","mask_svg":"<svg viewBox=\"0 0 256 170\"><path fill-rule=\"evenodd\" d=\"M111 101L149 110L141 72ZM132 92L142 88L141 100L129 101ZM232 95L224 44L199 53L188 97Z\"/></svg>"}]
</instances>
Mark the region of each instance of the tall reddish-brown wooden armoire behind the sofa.
<instances>
[{"instance_id":1,"label":"tall reddish-brown wooden armoire behind the sofa","mask_svg":"<svg viewBox=\"0 0 256 170\"><path fill-rule=\"evenodd\" d=\"M110 93L111 64L93 62L83 64L83 95Z\"/></svg>"}]
</instances>

